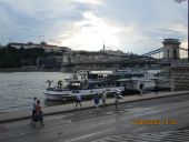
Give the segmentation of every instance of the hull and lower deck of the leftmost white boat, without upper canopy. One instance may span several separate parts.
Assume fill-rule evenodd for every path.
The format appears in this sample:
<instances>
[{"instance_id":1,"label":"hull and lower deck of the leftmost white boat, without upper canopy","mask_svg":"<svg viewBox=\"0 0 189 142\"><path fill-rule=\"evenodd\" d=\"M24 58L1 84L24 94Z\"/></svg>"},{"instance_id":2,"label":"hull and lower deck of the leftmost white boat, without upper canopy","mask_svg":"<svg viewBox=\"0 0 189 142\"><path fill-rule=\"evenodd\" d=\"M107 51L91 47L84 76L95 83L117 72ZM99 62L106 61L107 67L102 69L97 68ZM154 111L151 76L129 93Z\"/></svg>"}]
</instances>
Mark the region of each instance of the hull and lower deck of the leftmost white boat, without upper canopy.
<instances>
[{"instance_id":1,"label":"hull and lower deck of the leftmost white boat, without upper canopy","mask_svg":"<svg viewBox=\"0 0 189 142\"><path fill-rule=\"evenodd\" d=\"M102 94L103 91L107 93L115 93L117 90L123 91L125 87L117 87L116 82L110 81L72 81L62 89L50 88L44 91L48 100L67 100L76 98L77 93L81 97L88 97L92 94Z\"/></svg>"}]
</instances>

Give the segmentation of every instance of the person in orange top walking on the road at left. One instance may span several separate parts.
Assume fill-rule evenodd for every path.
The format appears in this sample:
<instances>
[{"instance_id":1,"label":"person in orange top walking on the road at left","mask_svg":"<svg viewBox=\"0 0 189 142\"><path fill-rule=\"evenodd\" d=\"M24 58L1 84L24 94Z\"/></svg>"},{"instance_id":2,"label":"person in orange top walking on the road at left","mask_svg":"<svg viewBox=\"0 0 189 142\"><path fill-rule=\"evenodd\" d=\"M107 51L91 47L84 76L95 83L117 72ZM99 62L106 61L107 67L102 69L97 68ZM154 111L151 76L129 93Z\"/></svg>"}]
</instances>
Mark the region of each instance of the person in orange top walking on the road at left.
<instances>
[{"instance_id":1,"label":"person in orange top walking on the road at left","mask_svg":"<svg viewBox=\"0 0 189 142\"><path fill-rule=\"evenodd\" d=\"M37 104L36 104L36 114L34 114L34 122L40 122L41 125L43 126L43 115L42 115L42 110L41 110L41 105L40 105L40 100L37 100ZM34 123L33 123L34 126Z\"/></svg>"}]
</instances>

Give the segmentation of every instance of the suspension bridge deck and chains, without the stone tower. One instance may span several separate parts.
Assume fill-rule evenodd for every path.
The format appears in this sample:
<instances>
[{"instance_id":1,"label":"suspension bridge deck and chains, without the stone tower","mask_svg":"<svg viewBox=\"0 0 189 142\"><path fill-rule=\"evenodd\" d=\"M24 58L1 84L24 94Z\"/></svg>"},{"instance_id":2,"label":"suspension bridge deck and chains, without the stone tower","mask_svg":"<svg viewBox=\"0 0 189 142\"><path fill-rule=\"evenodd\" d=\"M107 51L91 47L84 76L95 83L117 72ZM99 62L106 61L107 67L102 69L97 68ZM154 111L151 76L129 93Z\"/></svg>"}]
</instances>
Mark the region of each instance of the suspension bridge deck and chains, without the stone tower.
<instances>
[{"instance_id":1,"label":"suspension bridge deck and chains, without the stone tower","mask_svg":"<svg viewBox=\"0 0 189 142\"><path fill-rule=\"evenodd\" d=\"M180 52L187 53L188 50L183 48L179 48ZM181 54L181 53L180 53ZM107 60L107 61L86 61L86 62L70 62L60 64L59 67L77 67L77 65L149 65L149 64L161 64L161 65L170 65L171 62L175 61L175 59L163 59L163 48L150 51L148 53L145 53L142 55L136 57L136 58L128 58L122 60ZM185 55L186 57L186 55ZM186 59L186 58L182 58ZM182 60L185 61L185 60Z\"/></svg>"}]
</instances>

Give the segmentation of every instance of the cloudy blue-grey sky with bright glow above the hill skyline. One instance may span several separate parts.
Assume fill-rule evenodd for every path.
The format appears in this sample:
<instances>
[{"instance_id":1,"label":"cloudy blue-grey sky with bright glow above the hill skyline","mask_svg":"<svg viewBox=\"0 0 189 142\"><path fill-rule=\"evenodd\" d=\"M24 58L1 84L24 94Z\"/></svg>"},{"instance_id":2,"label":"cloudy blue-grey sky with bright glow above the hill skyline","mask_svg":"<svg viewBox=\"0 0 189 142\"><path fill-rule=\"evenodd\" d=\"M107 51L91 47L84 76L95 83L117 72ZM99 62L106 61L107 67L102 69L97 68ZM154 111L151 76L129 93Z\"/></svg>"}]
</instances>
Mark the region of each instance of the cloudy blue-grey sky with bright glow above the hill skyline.
<instances>
[{"instance_id":1,"label":"cloudy blue-grey sky with bright glow above the hill skyline","mask_svg":"<svg viewBox=\"0 0 189 142\"><path fill-rule=\"evenodd\" d=\"M188 47L188 0L0 0L0 44L44 41L72 50L142 54L166 38Z\"/></svg>"}]
</instances>

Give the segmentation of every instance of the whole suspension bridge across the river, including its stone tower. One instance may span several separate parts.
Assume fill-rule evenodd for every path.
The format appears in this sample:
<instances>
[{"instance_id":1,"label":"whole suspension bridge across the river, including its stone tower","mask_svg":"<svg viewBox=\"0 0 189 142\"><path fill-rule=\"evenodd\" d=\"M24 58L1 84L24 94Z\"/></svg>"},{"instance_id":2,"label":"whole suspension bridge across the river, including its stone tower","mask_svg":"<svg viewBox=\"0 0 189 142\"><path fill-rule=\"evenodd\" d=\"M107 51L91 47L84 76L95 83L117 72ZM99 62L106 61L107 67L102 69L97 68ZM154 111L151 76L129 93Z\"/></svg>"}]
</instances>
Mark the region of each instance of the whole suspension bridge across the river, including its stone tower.
<instances>
[{"instance_id":1,"label":"whole suspension bridge across the river, including its stone tower","mask_svg":"<svg viewBox=\"0 0 189 142\"><path fill-rule=\"evenodd\" d=\"M128 67L128 65L147 65L147 64L161 64L170 65L172 62L185 62L188 58L188 49L180 48L180 42L177 39L165 39L162 41L163 48L156 49L142 55L122 58L119 60L94 60L82 62L70 62L61 64L60 67ZM183 60L181 60L183 59Z\"/></svg>"}]
</instances>

